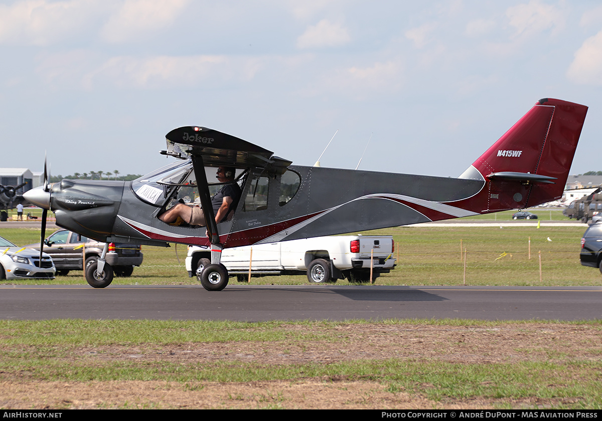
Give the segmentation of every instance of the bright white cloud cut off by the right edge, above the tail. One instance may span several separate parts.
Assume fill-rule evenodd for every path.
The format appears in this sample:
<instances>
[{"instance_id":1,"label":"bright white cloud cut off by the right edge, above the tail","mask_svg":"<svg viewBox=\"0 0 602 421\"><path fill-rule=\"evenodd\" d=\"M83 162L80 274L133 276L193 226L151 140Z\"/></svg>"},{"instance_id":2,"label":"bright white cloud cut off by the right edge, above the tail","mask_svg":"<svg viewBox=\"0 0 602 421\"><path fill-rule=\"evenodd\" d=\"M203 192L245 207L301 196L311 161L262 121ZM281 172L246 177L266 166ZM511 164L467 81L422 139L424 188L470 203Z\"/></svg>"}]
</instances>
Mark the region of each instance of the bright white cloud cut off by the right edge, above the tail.
<instances>
[{"instance_id":1,"label":"bright white cloud cut off by the right edge, above the tail","mask_svg":"<svg viewBox=\"0 0 602 421\"><path fill-rule=\"evenodd\" d=\"M566 76L575 83L602 86L602 31L583 42Z\"/></svg>"}]
</instances>

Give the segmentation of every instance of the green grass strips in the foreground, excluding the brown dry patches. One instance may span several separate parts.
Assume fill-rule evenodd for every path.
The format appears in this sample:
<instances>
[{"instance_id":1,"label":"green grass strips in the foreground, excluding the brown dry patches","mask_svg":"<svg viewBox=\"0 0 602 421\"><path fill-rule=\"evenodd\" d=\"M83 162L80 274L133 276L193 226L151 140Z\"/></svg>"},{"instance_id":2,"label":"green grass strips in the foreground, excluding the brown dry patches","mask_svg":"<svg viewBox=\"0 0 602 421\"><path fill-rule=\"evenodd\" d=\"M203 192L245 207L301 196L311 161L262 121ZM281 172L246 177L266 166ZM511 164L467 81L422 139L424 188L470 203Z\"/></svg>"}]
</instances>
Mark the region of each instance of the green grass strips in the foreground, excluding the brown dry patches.
<instances>
[{"instance_id":1,"label":"green grass strips in the foreground, excluding the brown dry patches","mask_svg":"<svg viewBox=\"0 0 602 421\"><path fill-rule=\"evenodd\" d=\"M591 360L591 357L580 360L573 355L563 355L553 362L540 357L533 361L488 364L412 360L411 357L289 364L221 360L219 356L202 362L170 361L161 357L169 351L169 346L202 349L203 344L209 342L228 343L229 349L236 349L238 342L270 342L285 353L289 347L327 341L337 349L337 343L349 340L347 335L341 335L341 326L358 323L366 322L1 320L0 381L17 378L19 382L164 381L196 390L201 382L345 379L380 382L391 393L403 391L435 402L486 399L498 402L494 406L500 408L516 408L517 402L537 399L545 400L550 408L602 408L602 361ZM450 320L386 320L383 323L402 330L422 325L446 326ZM516 322L454 320L453 323L504 328ZM547 322L538 322L541 323ZM599 332L601 323L581 322L579 325ZM524 324L528 329L529 322ZM297 331L296 326L303 325L312 328ZM107 346L113 346L112 351L106 351ZM146 358L117 358L131 352Z\"/></svg>"}]
</instances>

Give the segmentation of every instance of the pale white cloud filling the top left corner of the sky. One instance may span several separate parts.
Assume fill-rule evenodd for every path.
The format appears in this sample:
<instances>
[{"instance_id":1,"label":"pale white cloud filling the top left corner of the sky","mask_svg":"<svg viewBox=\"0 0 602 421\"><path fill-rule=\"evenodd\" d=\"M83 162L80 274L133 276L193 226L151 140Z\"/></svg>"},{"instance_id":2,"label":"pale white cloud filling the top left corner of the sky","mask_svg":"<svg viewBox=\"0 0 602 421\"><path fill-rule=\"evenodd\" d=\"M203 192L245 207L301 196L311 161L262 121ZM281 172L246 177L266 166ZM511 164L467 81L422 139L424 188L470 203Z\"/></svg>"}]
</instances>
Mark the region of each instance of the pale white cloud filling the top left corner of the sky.
<instances>
[{"instance_id":1,"label":"pale white cloud filling the top left corner of the sky","mask_svg":"<svg viewBox=\"0 0 602 421\"><path fill-rule=\"evenodd\" d=\"M0 43L47 46L85 28L95 0L25 0L0 5Z\"/></svg>"}]
</instances>

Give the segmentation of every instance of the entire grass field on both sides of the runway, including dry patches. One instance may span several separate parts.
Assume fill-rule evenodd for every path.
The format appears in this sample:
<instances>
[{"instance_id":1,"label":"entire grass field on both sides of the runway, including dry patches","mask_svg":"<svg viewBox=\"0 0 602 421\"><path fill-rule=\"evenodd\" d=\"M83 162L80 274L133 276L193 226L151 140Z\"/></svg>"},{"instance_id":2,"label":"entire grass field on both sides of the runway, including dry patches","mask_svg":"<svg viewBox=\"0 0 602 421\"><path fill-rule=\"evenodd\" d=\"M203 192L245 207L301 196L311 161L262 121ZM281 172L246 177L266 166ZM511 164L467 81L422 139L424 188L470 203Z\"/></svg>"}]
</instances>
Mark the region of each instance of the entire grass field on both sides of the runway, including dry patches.
<instances>
[{"instance_id":1,"label":"entire grass field on both sides of the runway, including dry patches","mask_svg":"<svg viewBox=\"0 0 602 421\"><path fill-rule=\"evenodd\" d=\"M601 285L600 272L579 263L585 228L365 234L393 235L396 243L397 269L377 284ZM0 235L17 245L39 241L36 229ZM143 266L114 284L197 284L184 270L183 246L179 262L174 247L143 252ZM73 271L1 282L25 283L85 280ZM251 279L272 283L307 280ZM600 409L601 331L599 320L1 320L0 408Z\"/></svg>"}]
</instances>

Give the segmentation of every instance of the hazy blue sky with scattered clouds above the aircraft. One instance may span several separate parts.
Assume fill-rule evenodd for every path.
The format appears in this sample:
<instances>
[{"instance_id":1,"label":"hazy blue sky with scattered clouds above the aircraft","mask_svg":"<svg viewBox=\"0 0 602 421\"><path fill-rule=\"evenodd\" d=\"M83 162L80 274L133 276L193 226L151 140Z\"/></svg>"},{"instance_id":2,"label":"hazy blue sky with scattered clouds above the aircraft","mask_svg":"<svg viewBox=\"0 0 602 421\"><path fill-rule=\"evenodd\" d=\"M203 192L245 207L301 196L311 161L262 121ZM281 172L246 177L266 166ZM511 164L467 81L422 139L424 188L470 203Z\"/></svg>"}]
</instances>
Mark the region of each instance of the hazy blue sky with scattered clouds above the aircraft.
<instances>
[{"instance_id":1,"label":"hazy blue sky with scattered clouds above the aircraft","mask_svg":"<svg viewBox=\"0 0 602 421\"><path fill-rule=\"evenodd\" d=\"M0 57L0 167L144 174L199 125L456 177L558 98L589 106L571 173L602 170L598 0L0 0Z\"/></svg>"}]
</instances>

